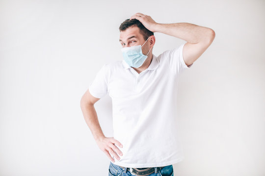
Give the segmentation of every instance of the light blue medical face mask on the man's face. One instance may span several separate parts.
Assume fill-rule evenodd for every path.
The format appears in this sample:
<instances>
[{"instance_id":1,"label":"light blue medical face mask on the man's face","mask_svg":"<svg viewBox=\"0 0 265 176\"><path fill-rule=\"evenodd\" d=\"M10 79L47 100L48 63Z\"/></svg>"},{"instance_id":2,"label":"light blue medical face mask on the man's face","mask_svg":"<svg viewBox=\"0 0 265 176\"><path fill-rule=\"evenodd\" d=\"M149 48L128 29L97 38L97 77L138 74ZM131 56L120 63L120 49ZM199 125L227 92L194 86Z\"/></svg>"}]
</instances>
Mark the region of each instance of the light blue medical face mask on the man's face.
<instances>
[{"instance_id":1,"label":"light blue medical face mask on the man's face","mask_svg":"<svg viewBox=\"0 0 265 176\"><path fill-rule=\"evenodd\" d=\"M148 37L148 39L149 39L149 37ZM145 43L148 41L148 39L145 41ZM129 66L138 68L138 67L142 66L144 61L147 59L147 55L150 52L151 48L149 49L148 53L146 55L144 55L142 53L142 46L137 45L137 46L121 48L123 58Z\"/></svg>"}]
</instances>

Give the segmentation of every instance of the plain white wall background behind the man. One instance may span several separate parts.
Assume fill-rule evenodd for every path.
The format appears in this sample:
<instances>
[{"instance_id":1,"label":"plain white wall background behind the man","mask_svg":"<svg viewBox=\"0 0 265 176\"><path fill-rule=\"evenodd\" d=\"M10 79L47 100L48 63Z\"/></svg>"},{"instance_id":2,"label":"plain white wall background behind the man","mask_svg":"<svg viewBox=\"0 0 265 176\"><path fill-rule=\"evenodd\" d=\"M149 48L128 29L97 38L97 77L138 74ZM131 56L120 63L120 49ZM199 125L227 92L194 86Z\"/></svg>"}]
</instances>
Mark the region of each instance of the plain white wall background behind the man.
<instances>
[{"instance_id":1,"label":"plain white wall background behind the man","mask_svg":"<svg viewBox=\"0 0 265 176\"><path fill-rule=\"evenodd\" d=\"M133 14L215 31L179 81L176 176L265 176L264 0L0 0L0 176L106 176L80 98ZM184 40L155 33L154 54ZM112 136L111 99L95 104Z\"/></svg>"}]
</instances>

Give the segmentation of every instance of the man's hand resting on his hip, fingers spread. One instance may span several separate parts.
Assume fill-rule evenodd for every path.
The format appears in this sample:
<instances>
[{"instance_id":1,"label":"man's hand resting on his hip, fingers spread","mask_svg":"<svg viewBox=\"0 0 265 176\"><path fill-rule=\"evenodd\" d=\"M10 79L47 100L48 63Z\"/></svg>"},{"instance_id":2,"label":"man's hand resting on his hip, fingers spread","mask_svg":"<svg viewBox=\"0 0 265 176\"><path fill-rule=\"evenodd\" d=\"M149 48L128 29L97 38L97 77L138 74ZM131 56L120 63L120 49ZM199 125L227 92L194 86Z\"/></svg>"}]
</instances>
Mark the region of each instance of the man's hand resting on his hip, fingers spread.
<instances>
[{"instance_id":1,"label":"man's hand resting on his hip, fingers spread","mask_svg":"<svg viewBox=\"0 0 265 176\"><path fill-rule=\"evenodd\" d=\"M122 144L114 139L113 137L102 137L98 140L96 140L100 150L102 150L112 162L115 162L115 160L111 157L110 154L112 154L115 158L120 160L119 155L123 155L122 152L118 149L117 146L122 148ZM115 144L115 145L114 145Z\"/></svg>"}]
</instances>

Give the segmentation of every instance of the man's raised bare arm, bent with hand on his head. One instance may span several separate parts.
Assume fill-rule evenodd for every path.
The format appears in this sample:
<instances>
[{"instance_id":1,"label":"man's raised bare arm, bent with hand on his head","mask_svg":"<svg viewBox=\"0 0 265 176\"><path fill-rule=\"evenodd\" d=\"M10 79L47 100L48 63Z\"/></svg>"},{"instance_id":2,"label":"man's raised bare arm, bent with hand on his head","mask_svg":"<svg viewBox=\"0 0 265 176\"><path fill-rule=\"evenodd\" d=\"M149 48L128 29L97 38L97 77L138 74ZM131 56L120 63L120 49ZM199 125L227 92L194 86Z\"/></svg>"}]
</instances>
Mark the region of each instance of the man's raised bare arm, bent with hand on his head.
<instances>
[{"instance_id":1,"label":"man's raised bare arm, bent with hand on his head","mask_svg":"<svg viewBox=\"0 0 265 176\"><path fill-rule=\"evenodd\" d=\"M152 32L160 32L185 40L187 43L183 47L183 59L187 66L202 55L215 37L215 32L211 28L187 22L161 24L141 13L134 14L131 19L139 20Z\"/></svg>"}]
</instances>

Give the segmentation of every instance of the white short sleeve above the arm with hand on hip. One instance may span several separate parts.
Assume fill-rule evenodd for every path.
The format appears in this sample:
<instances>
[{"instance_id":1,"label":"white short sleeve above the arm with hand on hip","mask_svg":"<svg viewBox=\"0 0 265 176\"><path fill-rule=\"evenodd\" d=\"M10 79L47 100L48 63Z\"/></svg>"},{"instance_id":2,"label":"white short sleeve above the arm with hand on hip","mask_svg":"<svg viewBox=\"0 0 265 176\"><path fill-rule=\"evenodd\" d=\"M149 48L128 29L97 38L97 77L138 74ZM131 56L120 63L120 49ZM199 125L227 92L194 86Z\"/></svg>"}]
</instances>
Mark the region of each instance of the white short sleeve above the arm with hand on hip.
<instances>
[{"instance_id":1,"label":"white short sleeve above the arm with hand on hip","mask_svg":"<svg viewBox=\"0 0 265 176\"><path fill-rule=\"evenodd\" d=\"M89 86L89 92L96 98L102 98L107 93L106 64L97 72L96 77Z\"/></svg>"}]
</instances>

